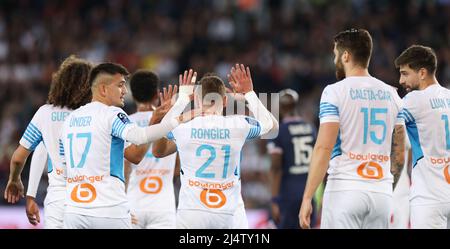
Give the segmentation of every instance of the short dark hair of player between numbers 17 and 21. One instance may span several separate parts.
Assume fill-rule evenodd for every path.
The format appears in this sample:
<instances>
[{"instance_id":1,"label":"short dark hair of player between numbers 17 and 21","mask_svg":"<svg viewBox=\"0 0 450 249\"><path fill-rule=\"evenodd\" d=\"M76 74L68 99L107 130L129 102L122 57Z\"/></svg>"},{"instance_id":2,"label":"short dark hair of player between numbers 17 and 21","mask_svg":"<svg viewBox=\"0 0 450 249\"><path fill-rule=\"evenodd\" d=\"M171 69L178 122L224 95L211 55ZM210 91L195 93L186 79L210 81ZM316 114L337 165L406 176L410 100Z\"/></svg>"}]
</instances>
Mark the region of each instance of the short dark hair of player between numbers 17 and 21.
<instances>
[{"instance_id":1,"label":"short dark hair of player between numbers 17 and 21","mask_svg":"<svg viewBox=\"0 0 450 249\"><path fill-rule=\"evenodd\" d=\"M158 93L159 77L150 70L140 69L130 77L131 95L140 103L150 102Z\"/></svg>"}]
</instances>

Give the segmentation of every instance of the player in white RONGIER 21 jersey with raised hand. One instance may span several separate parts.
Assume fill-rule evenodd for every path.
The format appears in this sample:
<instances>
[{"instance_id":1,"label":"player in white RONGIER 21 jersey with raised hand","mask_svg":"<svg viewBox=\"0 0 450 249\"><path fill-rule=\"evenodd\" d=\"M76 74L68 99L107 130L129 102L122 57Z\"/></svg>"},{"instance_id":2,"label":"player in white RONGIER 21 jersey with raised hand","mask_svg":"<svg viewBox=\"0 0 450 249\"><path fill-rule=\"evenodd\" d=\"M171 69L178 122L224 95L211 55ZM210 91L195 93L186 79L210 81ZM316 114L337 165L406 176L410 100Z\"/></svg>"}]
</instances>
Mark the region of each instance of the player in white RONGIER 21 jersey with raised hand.
<instances>
[{"instance_id":1,"label":"player in white RONGIER 21 jersey with raised hand","mask_svg":"<svg viewBox=\"0 0 450 249\"><path fill-rule=\"evenodd\" d=\"M235 216L245 217L239 208L243 206L239 180L242 146L246 139L278 130L278 122L253 91L249 68L236 65L229 80L235 92L245 94L255 119L223 116L225 85L216 76L206 76L194 96L204 116L180 125L168 135L176 143L181 162L177 228L235 228ZM153 154L164 155L171 150L169 142L159 140L153 145Z\"/></svg>"}]
</instances>

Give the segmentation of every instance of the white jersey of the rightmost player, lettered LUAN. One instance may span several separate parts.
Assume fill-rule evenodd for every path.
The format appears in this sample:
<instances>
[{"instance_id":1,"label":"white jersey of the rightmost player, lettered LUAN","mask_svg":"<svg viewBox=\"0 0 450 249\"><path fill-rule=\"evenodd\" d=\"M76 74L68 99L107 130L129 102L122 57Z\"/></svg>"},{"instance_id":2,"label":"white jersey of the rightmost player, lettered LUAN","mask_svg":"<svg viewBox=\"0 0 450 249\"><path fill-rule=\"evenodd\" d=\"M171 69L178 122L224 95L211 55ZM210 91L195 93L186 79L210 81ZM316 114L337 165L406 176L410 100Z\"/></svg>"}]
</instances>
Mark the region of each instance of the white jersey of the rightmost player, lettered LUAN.
<instances>
[{"instance_id":1,"label":"white jersey of the rightmost player, lettered LUAN","mask_svg":"<svg viewBox=\"0 0 450 249\"><path fill-rule=\"evenodd\" d=\"M411 205L450 202L450 90L434 84L404 99L413 170Z\"/></svg>"}]
</instances>

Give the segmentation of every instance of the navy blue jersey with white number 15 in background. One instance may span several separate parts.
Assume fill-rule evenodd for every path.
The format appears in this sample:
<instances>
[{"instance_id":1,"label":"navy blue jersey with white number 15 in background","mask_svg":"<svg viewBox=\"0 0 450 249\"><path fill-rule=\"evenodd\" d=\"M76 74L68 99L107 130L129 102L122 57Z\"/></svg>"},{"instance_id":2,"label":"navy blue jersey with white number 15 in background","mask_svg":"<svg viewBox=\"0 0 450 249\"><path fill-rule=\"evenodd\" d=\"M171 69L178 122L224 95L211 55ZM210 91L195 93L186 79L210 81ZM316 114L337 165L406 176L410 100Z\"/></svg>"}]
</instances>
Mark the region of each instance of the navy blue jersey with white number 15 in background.
<instances>
[{"instance_id":1,"label":"navy blue jersey with white number 15 in background","mask_svg":"<svg viewBox=\"0 0 450 249\"><path fill-rule=\"evenodd\" d=\"M283 120L278 137L269 142L269 153L282 154L280 201L302 199L316 136L312 124L290 118Z\"/></svg>"}]
</instances>

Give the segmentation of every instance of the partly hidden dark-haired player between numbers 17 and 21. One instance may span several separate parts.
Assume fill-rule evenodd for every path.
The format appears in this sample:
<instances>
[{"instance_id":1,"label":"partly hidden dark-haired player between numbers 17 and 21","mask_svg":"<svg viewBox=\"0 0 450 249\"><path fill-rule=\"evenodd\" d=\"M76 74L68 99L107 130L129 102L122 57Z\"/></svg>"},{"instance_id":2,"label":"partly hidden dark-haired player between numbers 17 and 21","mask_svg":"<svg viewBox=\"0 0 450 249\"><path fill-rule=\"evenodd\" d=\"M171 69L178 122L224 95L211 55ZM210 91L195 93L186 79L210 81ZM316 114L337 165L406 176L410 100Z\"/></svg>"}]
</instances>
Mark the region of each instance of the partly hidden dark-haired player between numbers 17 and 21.
<instances>
[{"instance_id":1,"label":"partly hidden dark-haired player between numbers 17 and 21","mask_svg":"<svg viewBox=\"0 0 450 249\"><path fill-rule=\"evenodd\" d=\"M130 88L137 106L137 112L130 115L130 120L139 126L147 126L153 116L154 106L158 102L158 76L148 70L138 70L130 78ZM169 86L168 101L172 91ZM167 93L164 88L163 93ZM164 102L164 99L162 99ZM152 120L151 124L159 121ZM174 229L176 228L176 206L173 187L177 155L155 158L150 150L139 164L125 162L128 172L127 197L131 213L137 219L133 228ZM127 177L126 177L127 178Z\"/></svg>"}]
</instances>

